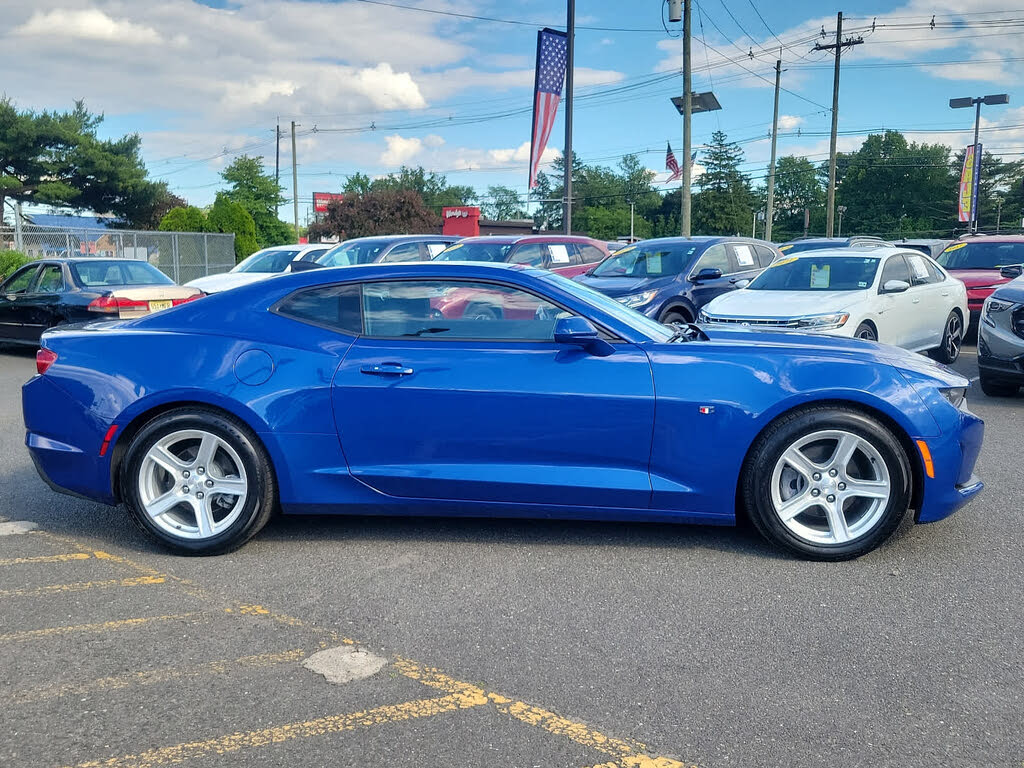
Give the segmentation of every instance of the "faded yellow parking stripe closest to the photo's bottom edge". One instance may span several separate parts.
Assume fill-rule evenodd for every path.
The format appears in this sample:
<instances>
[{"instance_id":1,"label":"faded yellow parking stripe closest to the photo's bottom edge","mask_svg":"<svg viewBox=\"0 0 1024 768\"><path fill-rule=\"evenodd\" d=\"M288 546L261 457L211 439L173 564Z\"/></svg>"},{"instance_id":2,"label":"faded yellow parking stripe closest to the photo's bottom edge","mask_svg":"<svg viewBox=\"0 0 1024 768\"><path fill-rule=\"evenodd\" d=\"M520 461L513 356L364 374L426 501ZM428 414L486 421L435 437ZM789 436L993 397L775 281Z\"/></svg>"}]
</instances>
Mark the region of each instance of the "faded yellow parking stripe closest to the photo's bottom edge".
<instances>
[{"instance_id":1,"label":"faded yellow parking stripe closest to the photo's bottom edge","mask_svg":"<svg viewBox=\"0 0 1024 768\"><path fill-rule=\"evenodd\" d=\"M154 766L169 763L181 763L202 757L266 746L295 738L323 736L328 733L369 728L375 725L413 720L414 718L432 717L447 712L480 707L486 702L487 699L483 696L474 697L451 693L439 698L420 698L415 701L387 705L346 715L331 715L300 723L289 723L253 731L240 731L204 741L187 741L173 746L150 750L137 755L126 755L121 758L92 760L79 763L76 768L154 768Z\"/></svg>"}]
</instances>

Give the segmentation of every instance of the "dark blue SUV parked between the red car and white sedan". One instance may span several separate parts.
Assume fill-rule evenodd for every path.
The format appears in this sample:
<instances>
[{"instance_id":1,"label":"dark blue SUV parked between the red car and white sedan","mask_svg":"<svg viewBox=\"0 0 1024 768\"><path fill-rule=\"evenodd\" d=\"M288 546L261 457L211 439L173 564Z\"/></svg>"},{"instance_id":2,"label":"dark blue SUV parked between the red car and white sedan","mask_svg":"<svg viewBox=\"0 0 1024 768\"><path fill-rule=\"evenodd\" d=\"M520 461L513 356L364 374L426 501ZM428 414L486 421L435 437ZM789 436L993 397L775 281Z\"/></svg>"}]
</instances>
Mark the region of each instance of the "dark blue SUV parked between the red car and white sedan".
<instances>
[{"instance_id":1,"label":"dark blue SUV parked between the red car and white sedan","mask_svg":"<svg viewBox=\"0 0 1024 768\"><path fill-rule=\"evenodd\" d=\"M779 256L750 238L658 238L616 251L575 280L659 323L692 323L716 296Z\"/></svg>"}]
</instances>

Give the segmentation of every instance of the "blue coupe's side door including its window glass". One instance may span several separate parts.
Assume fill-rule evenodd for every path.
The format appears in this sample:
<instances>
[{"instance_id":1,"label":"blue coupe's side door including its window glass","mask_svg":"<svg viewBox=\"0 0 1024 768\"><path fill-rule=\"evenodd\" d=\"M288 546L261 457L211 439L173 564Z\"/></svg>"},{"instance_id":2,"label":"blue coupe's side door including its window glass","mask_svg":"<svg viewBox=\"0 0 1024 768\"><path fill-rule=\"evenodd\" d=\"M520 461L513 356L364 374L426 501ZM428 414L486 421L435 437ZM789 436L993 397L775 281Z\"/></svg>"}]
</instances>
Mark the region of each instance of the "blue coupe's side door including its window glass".
<instances>
[{"instance_id":1,"label":"blue coupe's side door including its window glass","mask_svg":"<svg viewBox=\"0 0 1024 768\"><path fill-rule=\"evenodd\" d=\"M654 391L642 350L556 344L566 310L510 285L360 290L364 334L332 395L355 477L403 498L647 508Z\"/></svg>"}]
</instances>

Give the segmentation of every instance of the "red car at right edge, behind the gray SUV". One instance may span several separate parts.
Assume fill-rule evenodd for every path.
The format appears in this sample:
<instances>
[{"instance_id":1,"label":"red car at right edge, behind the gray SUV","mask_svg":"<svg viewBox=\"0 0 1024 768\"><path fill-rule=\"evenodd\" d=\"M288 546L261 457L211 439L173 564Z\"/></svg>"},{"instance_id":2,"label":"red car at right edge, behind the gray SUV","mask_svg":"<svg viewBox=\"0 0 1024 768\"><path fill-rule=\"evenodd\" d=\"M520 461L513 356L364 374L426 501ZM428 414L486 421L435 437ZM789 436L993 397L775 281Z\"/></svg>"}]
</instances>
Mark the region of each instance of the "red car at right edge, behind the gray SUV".
<instances>
[{"instance_id":1,"label":"red car at right edge, behind the gray SUV","mask_svg":"<svg viewBox=\"0 0 1024 768\"><path fill-rule=\"evenodd\" d=\"M981 314L981 305L992 291L1010 278L999 273L1005 266L1024 264L1024 236L975 236L950 243L936 259L967 286L967 305L971 322Z\"/></svg>"}]
</instances>

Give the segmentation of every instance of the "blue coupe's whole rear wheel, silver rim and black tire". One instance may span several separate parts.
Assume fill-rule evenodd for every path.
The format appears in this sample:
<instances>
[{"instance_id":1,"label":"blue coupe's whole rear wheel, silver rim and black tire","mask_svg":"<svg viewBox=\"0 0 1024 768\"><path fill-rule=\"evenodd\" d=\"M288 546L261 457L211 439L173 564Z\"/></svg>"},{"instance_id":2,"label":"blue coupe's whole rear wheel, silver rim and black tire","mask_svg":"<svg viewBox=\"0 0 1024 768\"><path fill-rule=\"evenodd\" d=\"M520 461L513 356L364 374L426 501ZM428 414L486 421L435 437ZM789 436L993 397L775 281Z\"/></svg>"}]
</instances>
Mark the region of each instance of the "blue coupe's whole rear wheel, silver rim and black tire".
<instances>
[{"instance_id":1,"label":"blue coupe's whole rear wheel, silver rim and black tire","mask_svg":"<svg viewBox=\"0 0 1024 768\"><path fill-rule=\"evenodd\" d=\"M143 426L121 465L121 488L139 526L182 554L236 549L274 508L273 472L256 436L204 409L171 411Z\"/></svg>"}]
</instances>

